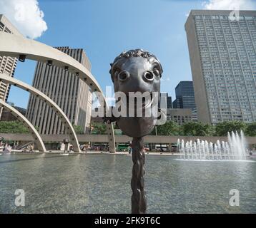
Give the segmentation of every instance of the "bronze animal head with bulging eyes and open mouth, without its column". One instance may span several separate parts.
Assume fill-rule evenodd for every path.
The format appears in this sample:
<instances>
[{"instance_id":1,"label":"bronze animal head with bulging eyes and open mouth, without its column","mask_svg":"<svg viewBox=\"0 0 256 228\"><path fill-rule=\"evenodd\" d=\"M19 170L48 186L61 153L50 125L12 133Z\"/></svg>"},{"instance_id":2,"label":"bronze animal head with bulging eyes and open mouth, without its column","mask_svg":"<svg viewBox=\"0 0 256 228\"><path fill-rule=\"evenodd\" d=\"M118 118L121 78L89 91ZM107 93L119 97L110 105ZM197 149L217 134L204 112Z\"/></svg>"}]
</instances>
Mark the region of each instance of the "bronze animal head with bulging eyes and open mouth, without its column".
<instances>
[{"instance_id":1,"label":"bronze animal head with bulging eyes and open mouth, without its column","mask_svg":"<svg viewBox=\"0 0 256 228\"><path fill-rule=\"evenodd\" d=\"M127 109L131 101L130 93L146 94L142 101L142 112L152 108L153 99L157 94L159 100L160 78L162 76L162 66L156 56L142 49L130 50L121 53L114 62L111 63L112 81L114 83L114 92L122 92L126 95ZM154 93L154 95L153 95ZM148 98L147 98L148 96ZM136 100L136 98L135 98ZM139 108L134 104L134 109ZM128 113L128 112L127 112ZM149 134L154 129L157 116L127 115L117 118L117 125L126 134L131 137L142 137Z\"/></svg>"}]
</instances>

